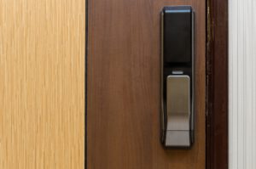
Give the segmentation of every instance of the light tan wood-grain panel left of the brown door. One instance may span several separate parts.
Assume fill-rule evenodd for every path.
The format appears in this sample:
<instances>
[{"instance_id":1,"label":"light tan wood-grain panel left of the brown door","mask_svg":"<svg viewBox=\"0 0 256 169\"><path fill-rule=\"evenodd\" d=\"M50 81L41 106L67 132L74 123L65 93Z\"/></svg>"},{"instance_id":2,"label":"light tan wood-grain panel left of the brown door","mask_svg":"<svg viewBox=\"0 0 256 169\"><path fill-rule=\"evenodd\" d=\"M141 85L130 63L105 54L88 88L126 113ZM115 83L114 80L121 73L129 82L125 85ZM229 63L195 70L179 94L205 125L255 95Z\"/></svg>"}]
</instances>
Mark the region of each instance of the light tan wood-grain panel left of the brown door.
<instances>
[{"instance_id":1,"label":"light tan wood-grain panel left of the brown door","mask_svg":"<svg viewBox=\"0 0 256 169\"><path fill-rule=\"evenodd\" d=\"M0 1L0 168L84 168L84 14Z\"/></svg>"}]
</instances>

